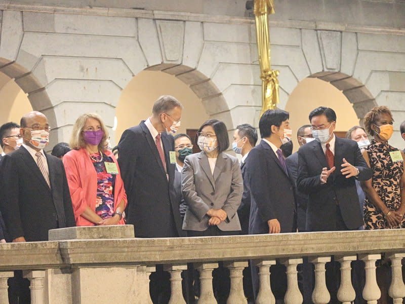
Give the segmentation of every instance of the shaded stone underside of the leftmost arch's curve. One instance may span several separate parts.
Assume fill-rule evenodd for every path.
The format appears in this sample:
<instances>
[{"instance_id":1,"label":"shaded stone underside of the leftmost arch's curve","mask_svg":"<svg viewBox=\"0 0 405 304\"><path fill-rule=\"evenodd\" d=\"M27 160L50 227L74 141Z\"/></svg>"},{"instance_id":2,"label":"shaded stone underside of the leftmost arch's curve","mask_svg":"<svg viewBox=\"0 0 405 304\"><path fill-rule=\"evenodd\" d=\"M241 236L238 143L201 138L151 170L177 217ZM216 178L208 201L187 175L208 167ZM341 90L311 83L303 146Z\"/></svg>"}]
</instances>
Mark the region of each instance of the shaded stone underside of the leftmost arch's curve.
<instances>
[{"instance_id":1,"label":"shaded stone underside of the leftmost arch's curve","mask_svg":"<svg viewBox=\"0 0 405 304\"><path fill-rule=\"evenodd\" d=\"M15 61L0 58L0 71L13 79L15 83L27 94L32 109L46 111L48 121L51 126L57 126L55 112L52 110L51 100L45 87L35 78L35 76L22 65ZM53 134L53 142L57 142L58 134Z\"/></svg>"}]
</instances>

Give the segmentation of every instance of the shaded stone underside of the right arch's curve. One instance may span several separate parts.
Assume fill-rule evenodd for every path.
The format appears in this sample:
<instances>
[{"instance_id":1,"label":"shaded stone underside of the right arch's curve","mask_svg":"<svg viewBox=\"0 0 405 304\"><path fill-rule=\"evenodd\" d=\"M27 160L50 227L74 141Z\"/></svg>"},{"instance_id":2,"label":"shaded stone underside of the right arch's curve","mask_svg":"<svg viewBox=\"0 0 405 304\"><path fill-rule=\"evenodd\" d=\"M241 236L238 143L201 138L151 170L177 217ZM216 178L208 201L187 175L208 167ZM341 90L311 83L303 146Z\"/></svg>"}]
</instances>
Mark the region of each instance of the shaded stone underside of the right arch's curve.
<instances>
[{"instance_id":1,"label":"shaded stone underside of the right arch's curve","mask_svg":"<svg viewBox=\"0 0 405 304\"><path fill-rule=\"evenodd\" d=\"M370 111L372 107L377 106L375 98L366 86L345 73L324 71L312 74L309 78L317 78L328 82L342 91L343 95L353 104L353 109L361 125L363 124L363 118L366 113Z\"/></svg>"}]
</instances>

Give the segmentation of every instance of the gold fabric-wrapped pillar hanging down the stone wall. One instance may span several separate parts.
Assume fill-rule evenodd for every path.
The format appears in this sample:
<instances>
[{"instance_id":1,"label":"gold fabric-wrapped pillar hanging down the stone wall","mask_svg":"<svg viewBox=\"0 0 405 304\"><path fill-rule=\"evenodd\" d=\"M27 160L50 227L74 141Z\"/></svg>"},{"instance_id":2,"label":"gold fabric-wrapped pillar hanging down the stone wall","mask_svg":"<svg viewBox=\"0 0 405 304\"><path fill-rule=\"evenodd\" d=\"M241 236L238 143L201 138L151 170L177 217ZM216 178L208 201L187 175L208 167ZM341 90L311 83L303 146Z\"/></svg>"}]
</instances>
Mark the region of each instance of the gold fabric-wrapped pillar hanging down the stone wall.
<instances>
[{"instance_id":1,"label":"gold fabric-wrapped pillar hanging down the stone wall","mask_svg":"<svg viewBox=\"0 0 405 304\"><path fill-rule=\"evenodd\" d=\"M256 36L262 80L262 111L275 109L279 102L278 71L271 69L269 14L274 14L274 0L255 0Z\"/></svg>"}]
</instances>

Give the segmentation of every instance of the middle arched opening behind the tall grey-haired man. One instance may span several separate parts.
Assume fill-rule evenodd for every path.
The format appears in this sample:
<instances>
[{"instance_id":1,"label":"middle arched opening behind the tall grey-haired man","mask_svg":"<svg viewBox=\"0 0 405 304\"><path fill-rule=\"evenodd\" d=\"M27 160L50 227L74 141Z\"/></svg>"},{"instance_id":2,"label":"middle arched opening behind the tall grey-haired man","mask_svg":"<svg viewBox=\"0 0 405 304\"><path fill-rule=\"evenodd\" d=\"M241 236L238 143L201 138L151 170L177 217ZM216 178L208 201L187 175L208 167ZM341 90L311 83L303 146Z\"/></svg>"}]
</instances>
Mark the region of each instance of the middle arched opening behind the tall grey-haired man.
<instances>
[{"instance_id":1,"label":"middle arched opening behind the tall grey-haired man","mask_svg":"<svg viewBox=\"0 0 405 304\"><path fill-rule=\"evenodd\" d=\"M188 133L209 118L225 122L231 130L232 119L224 97L210 79L185 65L159 64L138 73L122 91L116 107L112 143L129 127L151 115L154 101L172 95L183 105L179 133Z\"/></svg>"}]
</instances>

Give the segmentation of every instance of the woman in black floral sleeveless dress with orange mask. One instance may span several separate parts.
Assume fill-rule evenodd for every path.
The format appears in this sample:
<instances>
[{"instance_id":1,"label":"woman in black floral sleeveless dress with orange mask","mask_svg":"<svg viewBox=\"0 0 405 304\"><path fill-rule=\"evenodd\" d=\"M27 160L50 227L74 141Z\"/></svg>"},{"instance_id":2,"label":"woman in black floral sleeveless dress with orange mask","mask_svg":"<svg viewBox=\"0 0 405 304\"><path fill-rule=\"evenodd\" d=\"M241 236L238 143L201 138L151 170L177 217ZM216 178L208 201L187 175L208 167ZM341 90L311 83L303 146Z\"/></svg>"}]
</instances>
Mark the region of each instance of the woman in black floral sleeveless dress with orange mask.
<instances>
[{"instance_id":1,"label":"woman in black floral sleeveless dress with orange mask","mask_svg":"<svg viewBox=\"0 0 405 304\"><path fill-rule=\"evenodd\" d=\"M362 151L373 177L362 182L366 192L366 230L405 227L404 154L388 144L393 133L391 111L374 107L365 116L365 127L374 134L371 144Z\"/></svg>"}]
</instances>

